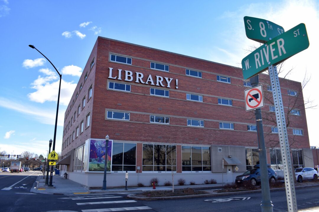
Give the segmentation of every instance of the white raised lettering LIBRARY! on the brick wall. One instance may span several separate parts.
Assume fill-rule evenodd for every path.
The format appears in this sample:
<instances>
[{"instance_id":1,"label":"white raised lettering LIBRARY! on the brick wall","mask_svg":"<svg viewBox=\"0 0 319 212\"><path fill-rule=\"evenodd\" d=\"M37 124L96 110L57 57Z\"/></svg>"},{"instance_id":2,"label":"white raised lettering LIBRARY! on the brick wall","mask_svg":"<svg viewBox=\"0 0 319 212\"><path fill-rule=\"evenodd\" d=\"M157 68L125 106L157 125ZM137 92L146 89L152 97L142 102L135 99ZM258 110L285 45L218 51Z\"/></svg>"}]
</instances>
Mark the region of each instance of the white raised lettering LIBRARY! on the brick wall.
<instances>
[{"instance_id":1,"label":"white raised lettering LIBRARY! on the brick wall","mask_svg":"<svg viewBox=\"0 0 319 212\"><path fill-rule=\"evenodd\" d=\"M173 78L161 77L157 75L153 77L151 74L149 74L148 76L144 76L144 74L140 72L135 72L133 74L133 72L131 71L127 71L127 70L123 71L122 69L118 69L117 73L113 74L113 68L109 67L108 69L109 69L108 79L122 80L122 77L123 77L124 81L131 82L135 80L134 82L136 83L142 83L146 85L156 85L156 86L167 87L167 88L171 87L171 82L173 80ZM122 73L123 73L123 76L122 76ZM178 89L178 79L175 79L175 88Z\"/></svg>"}]
</instances>

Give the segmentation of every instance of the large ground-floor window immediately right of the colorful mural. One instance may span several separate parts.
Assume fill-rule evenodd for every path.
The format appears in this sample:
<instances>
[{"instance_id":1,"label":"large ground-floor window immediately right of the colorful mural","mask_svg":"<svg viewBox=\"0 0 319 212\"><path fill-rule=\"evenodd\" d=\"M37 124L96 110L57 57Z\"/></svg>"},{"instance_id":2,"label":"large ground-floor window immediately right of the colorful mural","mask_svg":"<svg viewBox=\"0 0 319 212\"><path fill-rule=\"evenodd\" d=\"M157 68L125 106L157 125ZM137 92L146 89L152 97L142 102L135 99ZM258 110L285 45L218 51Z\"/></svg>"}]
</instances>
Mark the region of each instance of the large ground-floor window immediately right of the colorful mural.
<instances>
[{"instance_id":1,"label":"large ground-floor window immediately right of the colorful mural","mask_svg":"<svg viewBox=\"0 0 319 212\"><path fill-rule=\"evenodd\" d=\"M136 144L112 143L112 171L136 171Z\"/></svg>"}]
</instances>

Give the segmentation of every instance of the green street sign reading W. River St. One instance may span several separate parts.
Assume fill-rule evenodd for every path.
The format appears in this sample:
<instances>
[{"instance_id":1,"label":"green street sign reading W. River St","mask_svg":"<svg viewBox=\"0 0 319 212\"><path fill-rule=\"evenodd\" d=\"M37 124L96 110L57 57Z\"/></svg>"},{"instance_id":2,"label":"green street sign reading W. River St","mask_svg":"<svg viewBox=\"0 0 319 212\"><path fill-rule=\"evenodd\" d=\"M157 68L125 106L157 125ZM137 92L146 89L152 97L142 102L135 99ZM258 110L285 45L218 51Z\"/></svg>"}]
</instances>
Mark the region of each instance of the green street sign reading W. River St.
<instances>
[{"instance_id":1,"label":"green street sign reading W. River St","mask_svg":"<svg viewBox=\"0 0 319 212\"><path fill-rule=\"evenodd\" d=\"M244 79L263 72L270 65L307 49L309 40L305 24L299 24L251 52L241 61Z\"/></svg>"}]
</instances>

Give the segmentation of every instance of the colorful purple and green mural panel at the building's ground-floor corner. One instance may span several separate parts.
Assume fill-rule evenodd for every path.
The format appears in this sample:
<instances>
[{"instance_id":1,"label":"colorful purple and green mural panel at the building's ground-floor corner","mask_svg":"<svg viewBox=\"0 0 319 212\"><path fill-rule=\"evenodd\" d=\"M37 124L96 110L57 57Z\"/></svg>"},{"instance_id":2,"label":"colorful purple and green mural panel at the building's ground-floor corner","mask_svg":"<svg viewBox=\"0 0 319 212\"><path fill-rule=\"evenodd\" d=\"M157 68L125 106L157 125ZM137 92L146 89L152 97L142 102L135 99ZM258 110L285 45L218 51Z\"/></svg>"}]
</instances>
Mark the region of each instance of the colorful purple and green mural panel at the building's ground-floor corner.
<instances>
[{"instance_id":1,"label":"colorful purple and green mural panel at the building's ground-floor corner","mask_svg":"<svg viewBox=\"0 0 319 212\"><path fill-rule=\"evenodd\" d=\"M104 172L105 140L90 139L89 172ZM111 172L112 141L108 141L107 172Z\"/></svg>"}]
</instances>

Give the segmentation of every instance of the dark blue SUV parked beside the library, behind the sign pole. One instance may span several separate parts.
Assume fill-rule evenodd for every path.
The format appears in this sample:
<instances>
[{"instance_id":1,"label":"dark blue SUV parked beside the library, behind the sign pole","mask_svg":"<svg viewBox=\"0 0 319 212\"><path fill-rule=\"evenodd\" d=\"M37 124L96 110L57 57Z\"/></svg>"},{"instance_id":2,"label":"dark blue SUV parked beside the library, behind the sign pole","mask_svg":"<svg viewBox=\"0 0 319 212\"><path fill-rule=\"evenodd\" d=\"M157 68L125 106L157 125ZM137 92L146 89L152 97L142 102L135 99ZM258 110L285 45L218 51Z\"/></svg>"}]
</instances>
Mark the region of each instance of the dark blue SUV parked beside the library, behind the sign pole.
<instances>
[{"instance_id":1,"label":"dark blue SUV parked beside the library, behind the sign pole","mask_svg":"<svg viewBox=\"0 0 319 212\"><path fill-rule=\"evenodd\" d=\"M274 183L277 180L277 173L270 168L270 164L267 164L268 167L268 179L270 183ZM260 169L259 164L255 165L253 169L247 170L244 174L241 174L236 177L236 184L242 184L243 182L250 182L252 186L256 186L257 182L260 182Z\"/></svg>"}]
</instances>

